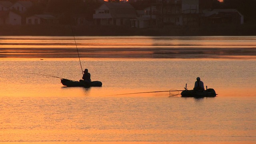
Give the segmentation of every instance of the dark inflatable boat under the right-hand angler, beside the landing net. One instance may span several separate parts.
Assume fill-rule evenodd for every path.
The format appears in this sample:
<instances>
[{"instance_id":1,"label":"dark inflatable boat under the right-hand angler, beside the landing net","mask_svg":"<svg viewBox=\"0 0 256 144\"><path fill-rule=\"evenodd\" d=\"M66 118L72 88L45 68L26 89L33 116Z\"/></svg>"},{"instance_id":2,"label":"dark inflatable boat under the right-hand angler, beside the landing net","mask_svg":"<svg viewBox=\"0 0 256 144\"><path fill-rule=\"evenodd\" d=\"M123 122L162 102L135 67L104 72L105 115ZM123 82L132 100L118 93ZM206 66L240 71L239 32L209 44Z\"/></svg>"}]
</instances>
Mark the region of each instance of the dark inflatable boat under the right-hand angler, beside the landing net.
<instances>
[{"instance_id":1,"label":"dark inflatable boat under the right-hand angler, beside the landing net","mask_svg":"<svg viewBox=\"0 0 256 144\"><path fill-rule=\"evenodd\" d=\"M215 97L217 94L213 88L208 88L204 91L200 90L183 90L181 92L181 97L194 97L194 98L204 98L204 97Z\"/></svg>"}]
</instances>

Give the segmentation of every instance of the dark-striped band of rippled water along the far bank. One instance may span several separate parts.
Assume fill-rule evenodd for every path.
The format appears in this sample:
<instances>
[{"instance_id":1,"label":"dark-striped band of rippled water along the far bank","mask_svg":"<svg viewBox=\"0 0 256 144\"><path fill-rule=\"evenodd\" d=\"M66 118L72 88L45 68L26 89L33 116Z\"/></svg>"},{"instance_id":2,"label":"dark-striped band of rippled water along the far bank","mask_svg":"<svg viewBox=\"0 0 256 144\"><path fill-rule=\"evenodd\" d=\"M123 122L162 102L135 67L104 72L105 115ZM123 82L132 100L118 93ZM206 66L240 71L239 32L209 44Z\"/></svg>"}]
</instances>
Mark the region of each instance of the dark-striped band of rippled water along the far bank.
<instances>
[{"instance_id":1,"label":"dark-striped band of rippled water along the far bank","mask_svg":"<svg viewBox=\"0 0 256 144\"><path fill-rule=\"evenodd\" d=\"M256 58L256 36L0 36L0 58Z\"/></svg>"}]
</instances>

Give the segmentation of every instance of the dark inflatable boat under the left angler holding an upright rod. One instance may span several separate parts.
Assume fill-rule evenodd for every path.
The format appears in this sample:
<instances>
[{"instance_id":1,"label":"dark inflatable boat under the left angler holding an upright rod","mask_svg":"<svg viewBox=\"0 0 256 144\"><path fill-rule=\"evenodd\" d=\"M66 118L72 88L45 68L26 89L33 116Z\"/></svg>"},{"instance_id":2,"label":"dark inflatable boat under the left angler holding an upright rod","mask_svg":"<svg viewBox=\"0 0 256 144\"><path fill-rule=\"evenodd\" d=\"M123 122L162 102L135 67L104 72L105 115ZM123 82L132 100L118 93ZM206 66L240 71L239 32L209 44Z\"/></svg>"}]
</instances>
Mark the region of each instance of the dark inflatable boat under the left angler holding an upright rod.
<instances>
[{"instance_id":1,"label":"dark inflatable boat under the left angler holding an upright rod","mask_svg":"<svg viewBox=\"0 0 256 144\"><path fill-rule=\"evenodd\" d=\"M100 81L92 81L89 84L85 84L83 80L74 81L74 80L68 80L68 79L61 79L60 82L63 84L63 86L68 87L91 87L91 86L102 86L102 82Z\"/></svg>"}]
</instances>

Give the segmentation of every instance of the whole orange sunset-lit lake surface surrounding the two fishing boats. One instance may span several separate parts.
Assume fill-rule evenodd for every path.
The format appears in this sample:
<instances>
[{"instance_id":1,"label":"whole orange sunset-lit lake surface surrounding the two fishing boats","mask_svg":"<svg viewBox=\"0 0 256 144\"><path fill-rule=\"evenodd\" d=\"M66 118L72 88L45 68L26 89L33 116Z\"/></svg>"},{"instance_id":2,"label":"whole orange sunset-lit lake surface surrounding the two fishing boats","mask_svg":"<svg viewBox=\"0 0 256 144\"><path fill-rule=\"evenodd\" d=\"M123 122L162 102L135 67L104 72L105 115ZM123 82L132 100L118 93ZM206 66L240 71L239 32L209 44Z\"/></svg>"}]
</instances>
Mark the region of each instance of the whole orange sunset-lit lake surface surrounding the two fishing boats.
<instances>
[{"instance_id":1,"label":"whole orange sunset-lit lake surface surrounding the two fishing boats","mask_svg":"<svg viewBox=\"0 0 256 144\"><path fill-rule=\"evenodd\" d=\"M136 54L129 52L126 57L118 59L111 58L112 55L109 56L105 52L101 58L81 56L83 69L88 68L92 80L100 80L103 83L102 87L92 88L67 88L62 86L59 78L36 75L50 74L71 80L79 80L82 77L77 57L61 55L60 57L64 58L51 58L54 56L52 48L63 50L60 46L62 42L59 42L63 37L43 39L1 39L1 42L4 42L0 45L0 143L256 143L256 44L255 40L252 40L255 37L234 37L234 40L230 37L226 40L208 37L201 40L209 41L209 44L202 47L210 51L214 50L212 45L216 41L221 41L222 44L217 47L223 51L228 47L232 47L232 50L240 47L239 56L233 54L232 57L221 56L222 58L218 59L212 57L220 56L218 54L199 59L194 58L195 55L186 59L136 57L158 48L156 43L170 47L173 41L160 37L155 38L155 45L146 45L150 38L133 38L132 43L140 43L140 46L136 45L139 47L134 52ZM67 39L72 43L72 38ZM81 39L87 40L89 37ZM131 43L123 38L120 40L122 44L114 49L116 43L110 44L111 38L101 39L91 38L92 42L88 46L78 44L79 50L93 47L97 43L97 47L101 47L100 50L113 47L110 53L122 50L116 54L120 56L124 50L129 49L127 47ZM115 41L119 39L112 38ZM163 39L166 40L162 41ZM195 43L200 42L196 42L197 40L198 37L181 38L175 51L184 48L187 43L191 45L190 48L198 50L200 48ZM227 42L230 40L241 42L230 44ZM24 41L27 44L17 44ZM51 44L52 41L54 44ZM30 43L34 43L32 54L27 51ZM100 44L102 46L99 46ZM42 46L42 52L36 51L37 47ZM66 44L63 44L63 47L65 46ZM150 48L138 54L138 51L145 47ZM243 51L247 48L251 49L250 54ZM67 48L69 49L73 49L75 55L76 46L72 45ZM47 55L43 50L51 52ZM30 58L24 58L21 53ZM59 53L57 50L55 55ZM41 58L44 60L40 60ZM198 76L205 86L216 90L217 97L168 97L169 92L115 95L183 90L185 84L188 84L188 89L192 89Z\"/></svg>"}]
</instances>

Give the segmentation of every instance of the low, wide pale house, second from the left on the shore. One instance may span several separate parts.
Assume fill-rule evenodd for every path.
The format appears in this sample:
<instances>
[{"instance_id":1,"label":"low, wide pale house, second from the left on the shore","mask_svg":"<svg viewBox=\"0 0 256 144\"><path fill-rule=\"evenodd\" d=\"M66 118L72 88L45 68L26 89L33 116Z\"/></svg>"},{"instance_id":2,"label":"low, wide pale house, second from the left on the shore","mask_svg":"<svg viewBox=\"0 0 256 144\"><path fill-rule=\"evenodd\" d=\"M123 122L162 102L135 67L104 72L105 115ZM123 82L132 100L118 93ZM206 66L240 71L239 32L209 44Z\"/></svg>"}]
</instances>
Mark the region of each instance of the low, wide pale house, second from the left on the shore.
<instances>
[{"instance_id":1,"label":"low, wide pale house, second from the left on the shore","mask_svg":"<svg viewBox=\"0 0 256 144\"><path fill-rule=\"evenodd\" d=\"M26 18L26 24L59 24L59 19L51 14L34 14Z\"/></svg>"}]
</instances>

